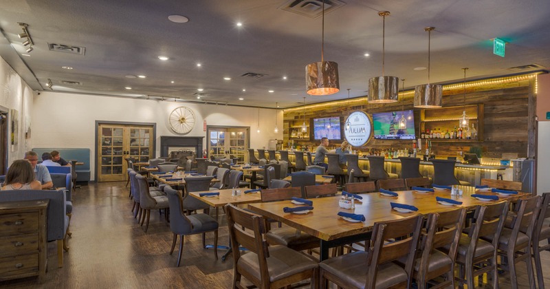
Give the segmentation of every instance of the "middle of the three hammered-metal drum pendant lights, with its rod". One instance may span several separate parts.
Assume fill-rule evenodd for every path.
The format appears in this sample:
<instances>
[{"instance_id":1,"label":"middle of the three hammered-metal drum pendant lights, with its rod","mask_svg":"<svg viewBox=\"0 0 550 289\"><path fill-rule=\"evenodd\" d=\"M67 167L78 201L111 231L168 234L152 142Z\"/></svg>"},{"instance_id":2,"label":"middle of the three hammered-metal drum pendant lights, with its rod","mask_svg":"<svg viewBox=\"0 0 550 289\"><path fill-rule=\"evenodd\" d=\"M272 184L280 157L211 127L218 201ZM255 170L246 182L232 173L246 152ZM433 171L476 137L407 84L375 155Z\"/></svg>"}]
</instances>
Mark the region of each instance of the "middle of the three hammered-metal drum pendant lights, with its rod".
<instances>
[{"instance_id":1,"label":"middle of the three hammered-metal drum pendant lights, with its rod","mask_svg":"<svg viewBox=\"0 0 550 289\"><path fill-rule=\"evenodd\" d=\"M399 90L399 78L395 76L384 76L384 65L386 64L386 16L390 12L381 11L378 15L382 17L382 76L369 79L369 103L395 103L397 102L397 91Z\"/></svg>"}]
</instances>

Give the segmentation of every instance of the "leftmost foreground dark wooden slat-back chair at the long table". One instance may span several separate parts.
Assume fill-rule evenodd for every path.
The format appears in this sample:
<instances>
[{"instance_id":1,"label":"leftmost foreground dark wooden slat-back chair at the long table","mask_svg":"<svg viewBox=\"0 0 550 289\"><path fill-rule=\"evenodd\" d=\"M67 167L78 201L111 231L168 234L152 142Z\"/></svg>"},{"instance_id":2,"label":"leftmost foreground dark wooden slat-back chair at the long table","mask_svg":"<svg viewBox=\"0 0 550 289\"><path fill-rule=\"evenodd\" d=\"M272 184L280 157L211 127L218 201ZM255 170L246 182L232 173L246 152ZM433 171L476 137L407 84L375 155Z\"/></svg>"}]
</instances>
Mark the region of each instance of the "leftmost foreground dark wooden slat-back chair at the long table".
<instances>
[{"instance_id":1,"label":"leftmost foreground dark wooden slat-back chair at the long table","mask_svg":"<svg viewBox=\"0 0 550 289\"><path fill-rule=\"evenodd\" d=\"M247 288L241 284L242 277L257 288L283 288L305 279L311 279L317 288L316 261L286 246L267 246L263 237L267 224L261 215L232 204L225 208L233 249L233 288ZM241 255L239 246L248 248L249 252Z\"/></svg>"}]
</instances>

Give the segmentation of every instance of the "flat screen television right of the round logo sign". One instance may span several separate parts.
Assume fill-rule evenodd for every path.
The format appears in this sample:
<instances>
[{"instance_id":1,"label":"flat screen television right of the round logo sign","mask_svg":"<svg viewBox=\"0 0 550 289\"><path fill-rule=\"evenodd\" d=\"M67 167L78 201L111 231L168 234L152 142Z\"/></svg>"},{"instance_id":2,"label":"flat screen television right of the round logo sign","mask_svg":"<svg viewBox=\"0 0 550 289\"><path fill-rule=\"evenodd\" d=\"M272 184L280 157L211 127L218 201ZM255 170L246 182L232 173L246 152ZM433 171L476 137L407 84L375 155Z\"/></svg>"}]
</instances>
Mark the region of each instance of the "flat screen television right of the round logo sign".
<instances>
[{"instance_id":1,"label":"flat screen television right of the round logo sign","mask_svg":"<svg viewBox=\"0 0 550 289\"><path fill-rule=\"evenodd\" d=\"M399 128L401 116L406 120L404 128ZM412 110L374 113L373 130L377 140L414 140L415 114Z\"/></svg>"}]
</instances>

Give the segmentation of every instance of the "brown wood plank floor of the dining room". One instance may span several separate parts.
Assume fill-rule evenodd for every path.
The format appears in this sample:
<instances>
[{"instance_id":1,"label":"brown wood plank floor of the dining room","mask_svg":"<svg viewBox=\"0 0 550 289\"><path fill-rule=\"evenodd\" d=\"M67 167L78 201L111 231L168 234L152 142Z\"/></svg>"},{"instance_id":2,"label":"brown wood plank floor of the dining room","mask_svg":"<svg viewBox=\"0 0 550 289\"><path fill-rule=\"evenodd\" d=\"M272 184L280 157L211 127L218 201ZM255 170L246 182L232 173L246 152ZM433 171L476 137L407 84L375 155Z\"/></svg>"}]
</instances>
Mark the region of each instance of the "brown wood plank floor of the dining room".
<instances>
[{"instance_id":1,"label":"brown wood plank floor of the dining room","mask_svg":"<svg viewBox=\"0 0 550 289\"><path fill-rule=\"evenodd\" d=\"M57 268L56 246L48 244L45 280L36 277L0 282L0 288L230 288L232 257L214 259L211 249L201 248L200 235L186 238L181 266L176 267L177 247L168 255L172 233L164 216L151 212L148 232L133 218L125 182L90 183L73 193L73 232L65 266ZM214 210L211 210L212 214ZM221 213L221 210L220 210ZM222 217L221 220L224 220ZM212 244L213 234L207 234ZM228 244L225 220L220 224L219 244ZM219 250L218 254L225 253ZM542 253L545 283L550 286L550 253ZM518 265L520 288L529 288L525 263ZM499 278L509 288L509 277ZM489 288L481 286L480 288Z\"/></svg>"}]
</instances>

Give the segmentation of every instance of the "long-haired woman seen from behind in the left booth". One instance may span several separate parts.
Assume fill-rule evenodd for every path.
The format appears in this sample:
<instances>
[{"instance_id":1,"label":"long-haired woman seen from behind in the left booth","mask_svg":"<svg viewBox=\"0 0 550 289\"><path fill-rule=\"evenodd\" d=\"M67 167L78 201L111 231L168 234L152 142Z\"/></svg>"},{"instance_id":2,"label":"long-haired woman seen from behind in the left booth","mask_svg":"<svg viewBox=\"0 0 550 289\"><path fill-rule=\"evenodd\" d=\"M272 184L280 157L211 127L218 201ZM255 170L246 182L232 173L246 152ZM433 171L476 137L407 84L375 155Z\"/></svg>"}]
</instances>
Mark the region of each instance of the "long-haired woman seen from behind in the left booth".
<instances>
[{"instance_id":1,"label":"long-haired woman seen from behind in the left booth","mask_svg":"<svg viewBox=\"0 0 550 289\"><path fill-rule=\"evenodd\" d=\"M40 190L42 184L35 180L34 170L28 160L16 160L5 175L2 190Z\"/></svg>"}]
</instances>

